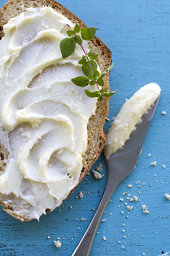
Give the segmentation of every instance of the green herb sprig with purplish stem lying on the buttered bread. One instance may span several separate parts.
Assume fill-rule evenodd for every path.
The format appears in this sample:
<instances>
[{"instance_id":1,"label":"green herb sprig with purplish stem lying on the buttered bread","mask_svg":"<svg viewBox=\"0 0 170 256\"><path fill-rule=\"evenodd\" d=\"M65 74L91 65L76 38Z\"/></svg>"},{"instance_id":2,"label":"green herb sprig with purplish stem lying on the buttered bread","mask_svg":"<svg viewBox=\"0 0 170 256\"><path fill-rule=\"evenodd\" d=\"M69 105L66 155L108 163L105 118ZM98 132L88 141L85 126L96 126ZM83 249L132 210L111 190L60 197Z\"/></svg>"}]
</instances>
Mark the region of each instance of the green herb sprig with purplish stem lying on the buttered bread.
<instances>
[{"instance_id":1,"label":"green herb sprig with purplish stem lying on the buttered bread","mask_svg":"<svg viewBox=\"0 0 170 256\"><path fill-rule=\"evenodd\" d=\"M89 84L96 85L98 90L95 92L85 90L85 94L90 98L97 97L98 101L102 101L103 97L111 97L114 93L116 93L117 90L113 92L106 92L106 87L100 89L99 86L104 86L103 78L105 74L107 74L112 69L114 63L112 63L112 65L110 65L104 72L100 74L97 70L97 62L95 61L98 57L98 54L93 55L92 49L89 50L89 53L86 53L84 47L82 46L82 40L89 41L94 38L97 28L80 28L80 26L76 24L74 29L72 30L68 24L66 24L66 26L68 26L69 28L69 30L66 31L69 38L64 38L60 42L62 58L65 59L72 55L76 49L76 44L81 46L85 54L82 55L81 60L78 61L78 64L82 65L81 69L85 76L72 78L72 82L75 85L81 87L85 87Z\"/></svg>"}]
</instances>

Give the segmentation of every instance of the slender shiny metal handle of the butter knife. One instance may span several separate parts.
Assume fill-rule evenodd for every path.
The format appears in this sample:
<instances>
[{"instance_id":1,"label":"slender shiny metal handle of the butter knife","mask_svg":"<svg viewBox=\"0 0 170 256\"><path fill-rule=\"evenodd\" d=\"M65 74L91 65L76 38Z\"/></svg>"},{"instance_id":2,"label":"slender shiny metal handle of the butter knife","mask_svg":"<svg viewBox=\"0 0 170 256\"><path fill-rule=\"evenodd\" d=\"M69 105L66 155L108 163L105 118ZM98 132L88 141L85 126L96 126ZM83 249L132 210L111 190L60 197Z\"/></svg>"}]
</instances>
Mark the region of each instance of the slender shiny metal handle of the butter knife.
<instances>
[{"instance_id":1,"label":"slender shiny metal handle of the butter knife","mask_svg":"<svg viewBox=\"0 0 170 256\"><path fill-rule=\"evenodd\" d=\"M112 175L112 172L110 172ZM94 213L94 216L92 220L90 221L90 224L88 228L86 229L86 232L84 233L84 236L81 238L80 243L77 245L75 251L73 252L72 256L88 256L90 252L90 248L93 243L93 238L96 234L96 230L98 227L98 224L100 222L100 219L102 217L102 214L105 210L105 207L109 201L109 198L111 197L114 189L118 185L118 181L116 179L113 179L110 177L108 173L108 179L106 183L106 187L104 190L104 193L102 195L102 198L100 200L100 203L96 209L96 212ZM115 185L114 185L115 184Z\"/></svg>"}]
</instances>

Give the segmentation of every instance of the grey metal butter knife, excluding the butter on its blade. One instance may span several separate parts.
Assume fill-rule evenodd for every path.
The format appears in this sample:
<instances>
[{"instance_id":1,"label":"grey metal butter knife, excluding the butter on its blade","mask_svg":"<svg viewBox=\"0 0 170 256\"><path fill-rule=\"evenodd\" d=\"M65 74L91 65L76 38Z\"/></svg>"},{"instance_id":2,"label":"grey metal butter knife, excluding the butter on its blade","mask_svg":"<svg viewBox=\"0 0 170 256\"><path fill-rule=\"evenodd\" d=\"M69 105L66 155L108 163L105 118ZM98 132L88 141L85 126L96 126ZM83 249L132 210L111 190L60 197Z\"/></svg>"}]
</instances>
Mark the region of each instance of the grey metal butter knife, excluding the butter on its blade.
<instances>
[{"instance_id":1,"label":"grey metal butter knife, excluding the butter on its blade","mask_svg":"<svg viewBox=\"0 0 170 256\"><path fill-rule=\"evenodd\" d=\"M142 116L142 122L136 126L135 131L133 131L128 140L126 140L122 149L118 149L114 154L112 154L108 159L108 179L106 187L100 203L94 213L92 220L84 236L81 238L80 243L77 245L72 256L88 256L90 248L93 243L93 238L95 236L98 224L105 210L105 207L111 197L113 191L116 189L117 185L135 168L135 164L142 151L143 141L147 130L150 125L150 121L155 113L159 97L148 110Z\"/></svg>"}]
</instances>

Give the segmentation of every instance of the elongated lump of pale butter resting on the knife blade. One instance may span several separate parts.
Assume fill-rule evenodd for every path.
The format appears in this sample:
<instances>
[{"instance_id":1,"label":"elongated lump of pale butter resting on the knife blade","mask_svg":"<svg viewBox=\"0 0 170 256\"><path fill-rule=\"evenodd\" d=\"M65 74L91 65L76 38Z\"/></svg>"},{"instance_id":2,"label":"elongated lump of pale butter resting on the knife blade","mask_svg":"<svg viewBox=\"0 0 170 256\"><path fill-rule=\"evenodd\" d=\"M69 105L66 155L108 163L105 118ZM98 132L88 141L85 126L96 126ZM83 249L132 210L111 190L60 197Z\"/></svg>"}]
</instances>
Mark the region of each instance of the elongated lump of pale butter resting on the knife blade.
<instances>
[{"instance_id":1,"label":"elongated lump of pale butter resting on the knife blade","mask_svg":"<svg viewBox=\"0 0 170 256\"><path fill-rule=\"evenodd\" d=\"M107 160L128 140L130 133L135 129L135 125L142 121L141 117L160 93L159 85L155 83L147 84L125 102L108 132L108 140L104 147Z\"/></svg>"}]
</instances>

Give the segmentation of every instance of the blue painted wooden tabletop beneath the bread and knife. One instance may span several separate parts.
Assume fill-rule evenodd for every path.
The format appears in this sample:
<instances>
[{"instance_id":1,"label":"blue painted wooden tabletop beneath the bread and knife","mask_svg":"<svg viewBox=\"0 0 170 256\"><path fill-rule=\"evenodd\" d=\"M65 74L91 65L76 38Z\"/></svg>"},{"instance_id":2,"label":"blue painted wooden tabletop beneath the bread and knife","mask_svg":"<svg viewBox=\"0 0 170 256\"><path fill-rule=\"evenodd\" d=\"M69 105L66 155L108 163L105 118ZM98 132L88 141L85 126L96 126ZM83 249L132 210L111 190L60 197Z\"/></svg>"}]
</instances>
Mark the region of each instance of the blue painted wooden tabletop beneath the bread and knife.
<instances>
[{"instance_id":1,"label":"blue painted wooden tabletop beneath the bread and knife","mask_svg":"<svg viewBox=\"0 0 170 256\"><path fill-rule=\"evenodd\" d=\"M0 7L4 3L0 0ZM156 82L162 89L139 161L110 198L102 217L106 221L100 222L90 256L162 255L170 251L170 201L165 198L165 193L170 194L170 1L60 3L88 26L97 27L97 36L112 51L115 65L110 73L110 87L118 91L109 102L110 122L105 123L106 131L125 98L150 82ZM161 115L162 111L166 115ZM154 161L157 165L151 166ZM92 208L96 209L104 191L107 168L103 154L92 169L99 163L103 164L105 177L97 180L90 172L60 209L42 216L40 222L22 223L0 209L0 255L72 255L94 214ZM133 187L128 188L129 184ZM80 191L84 192L83 198L76 198ZM129 198L136 195L140 201L129 202L128 194ZM126 202L133 206L129 214ZM149 214L143 213L143 204ZM86 220L82 221L82 217ZM62 243L60 249L53 244L57 237Z\"/></svg>"}]
</instances>

